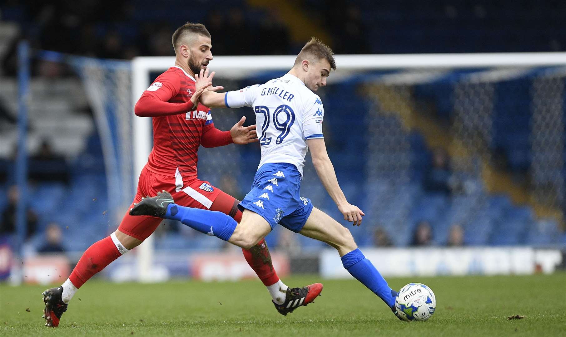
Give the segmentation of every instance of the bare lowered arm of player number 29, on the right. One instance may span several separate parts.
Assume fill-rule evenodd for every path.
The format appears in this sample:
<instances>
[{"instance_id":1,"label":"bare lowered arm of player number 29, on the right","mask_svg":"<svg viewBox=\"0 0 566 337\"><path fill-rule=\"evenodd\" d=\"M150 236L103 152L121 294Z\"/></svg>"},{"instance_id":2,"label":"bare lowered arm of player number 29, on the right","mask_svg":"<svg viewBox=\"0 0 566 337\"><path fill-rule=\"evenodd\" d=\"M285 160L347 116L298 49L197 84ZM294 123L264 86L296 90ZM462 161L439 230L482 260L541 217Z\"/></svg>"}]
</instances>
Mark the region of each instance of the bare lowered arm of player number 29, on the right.
<instances>
[{"instance_id":1,"label":"bare lowered arm of player number 29, on the right","mask_svg":"<svg viewBox=\"0 0 566 337\"><path fill-rule=\"evenodd\" d=\"M324 188L332 197L332 200L336 202L336 206L338 206L338 209L344 215L344 220L354 222L354 226L359 226L362 223L362 215L366 214L364 214L358 206L351 205L348 200L346 200L344 192L342 192L340 185L338 185L336 172L328 157L324 139L307 139L307 145L308 149L311 151L312 165L315 167L320 182L324 185Z\"/></svg>"}]
</instances>

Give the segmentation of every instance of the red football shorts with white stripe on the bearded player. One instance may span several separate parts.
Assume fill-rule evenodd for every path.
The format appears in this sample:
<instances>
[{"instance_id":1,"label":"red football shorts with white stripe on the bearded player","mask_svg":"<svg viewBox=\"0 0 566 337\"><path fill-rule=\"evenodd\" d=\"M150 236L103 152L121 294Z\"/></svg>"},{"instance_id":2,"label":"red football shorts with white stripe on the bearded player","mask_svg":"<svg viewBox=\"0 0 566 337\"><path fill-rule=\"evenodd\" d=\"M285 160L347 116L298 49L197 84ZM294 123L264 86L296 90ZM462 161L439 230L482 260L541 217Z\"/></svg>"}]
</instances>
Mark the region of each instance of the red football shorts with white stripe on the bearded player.
<instances>
[{"instance_id":1,"label":"red football shorts with white stripe on the bearded player","mask_svg":"<svg viewBox=\"0 0 566 337\"><path fill-rule=\"evenodd\" d=\"M170 177L156 174L144 167L138 181L138 193L134 202L140 202L141 197L156 196L157 192L167 191L173 196L175 204L192 208L221 211L240 221L242 213L238 210L239 201L222 192L211 183L195 177L183 179L181 175ZM126 211L118 230L124 234L145 240L155 231L163 219L146 217L144 215L132 216L128 214L134 207L134 202Z\"/></svg>"}]
</instances>

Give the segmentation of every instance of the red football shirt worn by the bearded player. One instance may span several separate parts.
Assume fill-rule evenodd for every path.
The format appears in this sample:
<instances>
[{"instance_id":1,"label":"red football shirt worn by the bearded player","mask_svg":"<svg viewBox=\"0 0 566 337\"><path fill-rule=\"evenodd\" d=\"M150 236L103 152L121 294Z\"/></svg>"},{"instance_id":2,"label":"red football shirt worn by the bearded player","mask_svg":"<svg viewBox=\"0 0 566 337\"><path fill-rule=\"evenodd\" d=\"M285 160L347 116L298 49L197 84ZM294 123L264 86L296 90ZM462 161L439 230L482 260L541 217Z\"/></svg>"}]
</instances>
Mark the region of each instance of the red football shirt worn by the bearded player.
<instances>
[{"instance_id":1,"label":"red football shirt worn by the bearded player","mask_svg":"<svg viewBox=\"0 0 566 337\"><path fill-rule=\"evenodd\" d=\"M159 75L143 93L137 105L143 105L144 98L152 96L162 102L186 103L195 92L195 79L178 66L170 67ZM182 105L178 105L181 106ZM177 108L178 109L178 108ZM212 115L207 106L200 102L191 111L176 114L153 115L153 149L145 167L156 174L183 178L196 176L198 150L203 133L214 128ZM180 113L179 113L180 112ZM136 113L137 114L137 113ZM218 132L215 129L215 132ZM218 135L218 133L211 132ZM222 144L230 144L231 137L222 132ZM228 139L229 137L229 139ZM206 146L206 145L205 145Z\"/></svg>"}]
</instances>

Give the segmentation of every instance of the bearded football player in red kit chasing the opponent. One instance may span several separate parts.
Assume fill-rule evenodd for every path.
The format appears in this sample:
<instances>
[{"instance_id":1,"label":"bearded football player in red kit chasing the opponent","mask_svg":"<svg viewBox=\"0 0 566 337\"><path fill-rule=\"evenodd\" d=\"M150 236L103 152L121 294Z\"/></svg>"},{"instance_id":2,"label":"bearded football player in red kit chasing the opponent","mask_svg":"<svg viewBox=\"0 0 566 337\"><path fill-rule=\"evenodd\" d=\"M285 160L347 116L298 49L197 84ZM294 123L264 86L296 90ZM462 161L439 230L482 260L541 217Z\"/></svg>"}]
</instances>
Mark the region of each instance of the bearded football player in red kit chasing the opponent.
<instances>
[{"instance_id":1,"label":"bearded football player in red kit chasing the opponent","mask_svg":"<svg viewBox=\"0 0 566 337\"><path fill-rule=\"evenodd\" d=\"M195 90L194 74L205 69L212 60L211 35L204 25L182 25L175 31L172 40L175 65L157 77L134 108L137 116L153 117L153 149L141 171L134 202L139 202L144 196L168 191L179 205L221 211L239 222L242 218L242 212L237 207L239 200L198 178L197 152L200 145L213 148L258 141L256 126L244 127L246 118L242 117L230 131L220 131L214 127L210 109L199 103L200 94L205 88ZM58 326L59 319L78 288L110 262L141 244L155 231L161 220L156 217L135 217L126 212L115 232L97 241L83 253L65 283L42 294L45 325ZM277 309L281 314L286 315L296 308L289 306L287 309L283 304L306 297L309 299L308 302L304 301L303 305L306 305L322 290L320 283L303 288L286 286L273 269L265 240L249 250L243 249L243 254L268 288L276 308L284 308Z\"/></svg>"}]
</instances>

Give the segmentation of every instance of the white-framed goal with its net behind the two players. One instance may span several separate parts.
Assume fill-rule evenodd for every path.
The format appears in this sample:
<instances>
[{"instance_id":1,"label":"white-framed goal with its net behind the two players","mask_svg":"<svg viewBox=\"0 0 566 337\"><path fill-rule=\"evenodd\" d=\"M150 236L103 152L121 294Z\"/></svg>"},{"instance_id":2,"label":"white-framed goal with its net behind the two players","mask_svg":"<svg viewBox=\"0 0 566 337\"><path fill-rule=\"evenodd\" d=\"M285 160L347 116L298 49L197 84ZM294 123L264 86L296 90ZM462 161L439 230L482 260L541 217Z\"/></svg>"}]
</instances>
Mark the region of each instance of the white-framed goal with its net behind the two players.
<instances>
[{"instance_id":1,"label":"white-framed goal with its net behind the two players","mask_svg":"<svg viewBox=\"0 0 566 337\"><path fill-rule=\"evenodd\" d=\"M215 85L234 90L284 75L294 58L215 57L209 68L217 73ZM438 245L458 230L468 245L558 243L565 206L565 59L565 53L337 55L338 70L318 94L338 181L366 213L353 231L358 243L409 245L422 222ZM107 167L129 189L116 204L119 212L131 202L152 146L151 119L135 117L133 103L173 64L171 57L139 57L126 71L104 62L80 66L93 106L111 126L102 141L113 149L105 152L115 161ZM253 123L251 109L212 111L223 130L242 115ZM259 155L257 144L200 150L199 178L242 197ZM309 159L303 196L342 219ZM277 236L277 230L271 234L272 246ZM303 249L320 247L297 240ZM153 245L150 240L140 249L142 280L151 279Z\"/></svg>"}]
</instances>

